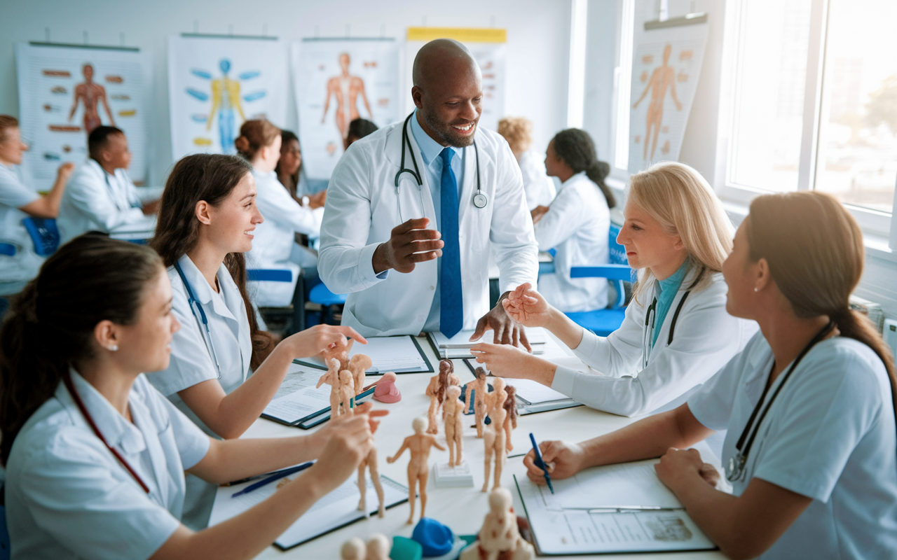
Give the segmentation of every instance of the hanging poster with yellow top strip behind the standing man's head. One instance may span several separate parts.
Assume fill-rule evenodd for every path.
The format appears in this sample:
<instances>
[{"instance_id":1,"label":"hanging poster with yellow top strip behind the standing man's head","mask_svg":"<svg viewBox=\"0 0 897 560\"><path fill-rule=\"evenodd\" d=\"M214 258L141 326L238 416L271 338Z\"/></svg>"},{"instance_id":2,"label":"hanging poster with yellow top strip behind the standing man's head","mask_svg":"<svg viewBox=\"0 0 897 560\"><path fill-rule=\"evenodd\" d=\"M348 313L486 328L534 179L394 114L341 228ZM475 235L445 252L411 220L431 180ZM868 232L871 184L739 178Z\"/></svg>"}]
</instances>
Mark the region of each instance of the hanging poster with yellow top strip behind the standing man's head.
<instances>
[{"instance_id":1,"label":"hanging poster with yellow top strip behind the standing man's head","mask_svg":"<svg viewBox=\"0 0 897 560\"><path fill-rule=\"evenodd\" d=\"M479 126L498 130L499 120L505 116L505 50L508 32L495 28L446 28L409 27L407 43L408 91L411 91L411 69L417 51L433 39L455 39L464 43L483 72L483 115ZM405 104L408 110L414 108L411 96Z\"/></svg>"}]
</instances>

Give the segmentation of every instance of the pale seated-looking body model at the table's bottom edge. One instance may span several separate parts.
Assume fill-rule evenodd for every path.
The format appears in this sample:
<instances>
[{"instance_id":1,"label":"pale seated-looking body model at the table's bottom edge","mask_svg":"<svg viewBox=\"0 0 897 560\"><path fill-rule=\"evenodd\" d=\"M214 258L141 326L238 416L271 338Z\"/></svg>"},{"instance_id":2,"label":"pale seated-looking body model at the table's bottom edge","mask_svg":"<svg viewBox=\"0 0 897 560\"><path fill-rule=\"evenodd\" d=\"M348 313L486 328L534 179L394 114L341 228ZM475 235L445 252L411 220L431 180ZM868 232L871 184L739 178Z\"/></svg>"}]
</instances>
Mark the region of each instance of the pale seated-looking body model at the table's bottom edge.
<instances>
[{"instance_id":1,"label":"pale seated-looking body model at the table's bottom edge","mask_svg":"<svg viewBox=\"0 0 897 560\"><path fill-rule=\"evenodd\" d=\"M532 560L536 557L533 546L520 537L517 516L511 504L507 488L492 490L483 528L477 540L461 552L460 560Z\"/></svg>"}]
</instances>

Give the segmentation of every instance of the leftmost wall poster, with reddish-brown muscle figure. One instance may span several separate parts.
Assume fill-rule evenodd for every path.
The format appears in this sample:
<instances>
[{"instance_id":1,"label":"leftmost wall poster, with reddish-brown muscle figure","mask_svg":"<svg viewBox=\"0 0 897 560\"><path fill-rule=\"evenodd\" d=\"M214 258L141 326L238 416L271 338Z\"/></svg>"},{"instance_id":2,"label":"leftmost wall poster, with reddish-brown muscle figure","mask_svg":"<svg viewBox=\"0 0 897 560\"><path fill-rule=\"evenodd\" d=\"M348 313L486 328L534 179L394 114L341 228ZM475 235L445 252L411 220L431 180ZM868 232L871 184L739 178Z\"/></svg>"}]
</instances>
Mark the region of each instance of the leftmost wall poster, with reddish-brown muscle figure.
<instances>
[{"instance_id":1,"label":"leftmost wall poster, with reddish-brown muscle figure","mask_svg":"<svg viewBox=\"0 0 897 560\"><path fill-rule=\"evenodd\" d=\"M100 125L125 131L134 154L128 175L147 175L146 103L152 94L150 56L136 48L61 47L16 43L19 125L30 145L22 172L48 190L65 161L87 159L87 135Z\"/></svg>"}]
</instances>

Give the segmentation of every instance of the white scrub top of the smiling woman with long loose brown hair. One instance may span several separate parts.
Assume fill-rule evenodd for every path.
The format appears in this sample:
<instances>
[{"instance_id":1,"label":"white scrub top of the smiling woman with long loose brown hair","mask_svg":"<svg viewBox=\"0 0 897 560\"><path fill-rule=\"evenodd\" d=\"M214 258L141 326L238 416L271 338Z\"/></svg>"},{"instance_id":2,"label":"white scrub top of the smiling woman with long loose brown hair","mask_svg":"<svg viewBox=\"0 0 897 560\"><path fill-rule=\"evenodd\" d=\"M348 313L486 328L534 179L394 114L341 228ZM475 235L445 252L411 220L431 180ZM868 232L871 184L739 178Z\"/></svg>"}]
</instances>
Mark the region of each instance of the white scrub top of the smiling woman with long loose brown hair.
<instances>
[{"instance_id":1,"label":"white scrub top of the smiling woman with long loose brown hair","mask_svg":"<svg viewBox=\"0 0 897 560\"><path fill-rule=\"evenodd\" d=\"M218 362L221 364L221 377L218 368L206 348L209 341L202 326L200 314L196 306L191 311L187 303L187 290L180 280L178 271L169 268L171 280L171 307L180 323L180 331L174 333L171 340L171 360L168 369L149 375L150 382L185 415L196 423L196 426L208 434L218 437L196 413L187 408L178 395L188 387L210 379L218 379L225 393L231 393L246 380L249 374L249 360L252 358L252 339L249 335L249 320L246 306L239 295L237 284L231 273L222 264L218 269L218 285L220 293L216 293L203 277L202 272L186 254L179 260L181 269L193 289L200 305L208 318L209 331L212 333L212 347ZM196 313L196 314L195 314ZM190 529L205 528L212 513L215 487L193 475L187 475L187 500L184 506L183 521Z\"/></svg>"}]
</instances>

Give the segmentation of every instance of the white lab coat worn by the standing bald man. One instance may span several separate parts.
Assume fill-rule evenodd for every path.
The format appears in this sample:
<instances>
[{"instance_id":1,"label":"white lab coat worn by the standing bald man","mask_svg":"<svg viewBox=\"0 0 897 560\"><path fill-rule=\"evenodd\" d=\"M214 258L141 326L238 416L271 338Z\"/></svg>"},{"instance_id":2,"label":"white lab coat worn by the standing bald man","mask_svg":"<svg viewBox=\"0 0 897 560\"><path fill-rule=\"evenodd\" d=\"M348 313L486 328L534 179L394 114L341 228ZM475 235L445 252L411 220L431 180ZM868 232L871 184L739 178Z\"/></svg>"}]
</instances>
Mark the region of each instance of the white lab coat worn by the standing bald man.
<instances>
[{"instance_id":1,"label":"white lab coat worn by the standing bald man","mask_svg":"<svg viewBox=\"0 0 897 560\"><path fill-rule=\"evenodd\" d=\"M327 189L318 273L328 289L349 294L343 324L363 336L422 332L439 280L435 260L418 263L407 274L380 275L385 278L374 274L371 262L374 250L403 221L426 217L430 228L438 223L411 125L407 134L422 186L403 173L396 194L402 158L402 123L396 123L354 142L336 164ZM476 144L482 190L489 202L484 208L474 205L476 158L474 147L468 146L458 195L464 329L474 329L489 311L490 246L501 271L502 292L524 282L535 284L538 273L536 238L517 161L508 143L490 130L478 129ZM414 169L411 151L405 155L405 167Z\"/></svg>"}]
</instances>

